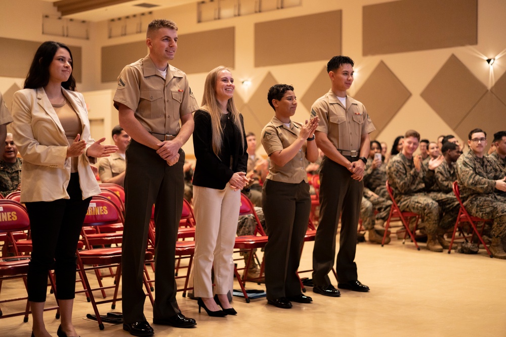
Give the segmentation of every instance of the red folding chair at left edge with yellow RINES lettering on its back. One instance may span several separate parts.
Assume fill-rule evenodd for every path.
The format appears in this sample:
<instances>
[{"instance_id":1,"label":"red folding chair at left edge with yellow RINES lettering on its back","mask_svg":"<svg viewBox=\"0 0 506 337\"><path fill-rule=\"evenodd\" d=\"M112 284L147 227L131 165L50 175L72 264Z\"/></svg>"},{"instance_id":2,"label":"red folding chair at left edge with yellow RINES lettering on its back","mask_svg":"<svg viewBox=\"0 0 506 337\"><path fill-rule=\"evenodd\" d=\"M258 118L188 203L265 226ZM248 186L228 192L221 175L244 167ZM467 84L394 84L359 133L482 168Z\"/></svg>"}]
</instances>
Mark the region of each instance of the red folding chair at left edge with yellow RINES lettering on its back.
<instances>
[{"instance_id":1,"label":"red folding chair at left edge with yellow RINES lettering on its back","mask_svg":"<svg viewBox=\"0 0 506 337\"><path fill-rule=\"evenodd\" d=\"M29 228L30 228L30 220L28 218L26 208L23 205L14 200L7 200L7 199L0 200L0 233L5 235L4 245L12 247L12 250L10 250L12 256L9 257L3 256L2 258L0 258L0 290L2 288L3 281L12 279L23 279L23 283L26 288L26 274L28 273L28 261L30 257L26 255L21 255L21 253L17 248L17 240L15 238L14 233L25 231L28 230ZM51 275L50 281L51 281L51 288L54 292L55 284L54 279L53 277L51 277ZM24 311L3 315L3 312L0 309L0 318L8 318L23 315L24 316L23 321L27 322L28 314L31 313L27 296L1 300L0 303L8 303L24 300L26 300L26 307ZM58 299L56 300L56 302L58 303ZM44 311L55 309L56 310L59 309L58 305L54 307L44 308ZM60 317L59 312L57 312L56 318L59 317Z\"/></svg>"}]
</instances>

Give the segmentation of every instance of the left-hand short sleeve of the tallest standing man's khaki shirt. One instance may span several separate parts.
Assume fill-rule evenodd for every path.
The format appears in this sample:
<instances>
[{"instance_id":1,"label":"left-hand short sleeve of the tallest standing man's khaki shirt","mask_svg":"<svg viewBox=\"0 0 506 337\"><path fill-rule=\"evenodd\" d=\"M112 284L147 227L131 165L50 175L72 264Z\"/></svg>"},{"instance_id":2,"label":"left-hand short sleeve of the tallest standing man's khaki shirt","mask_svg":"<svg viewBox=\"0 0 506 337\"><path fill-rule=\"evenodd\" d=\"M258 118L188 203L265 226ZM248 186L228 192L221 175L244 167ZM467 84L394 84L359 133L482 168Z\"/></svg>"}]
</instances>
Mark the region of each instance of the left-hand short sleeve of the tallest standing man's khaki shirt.
<instances>
[{"instance_id":1,"label":"left-hand short sleeve of the tallest standing man's khaki shirt","mask_svg":"<svg viewBox=\"0 0 506 337\"><path fill-rule=\"evenodd\" d=\"M114 94L114 107L119 108L118 103L121 103L129 109L136 111L140 100L140 74L132 66L123 68L118 76L118 85L116 93Z\"/></svg>"}]
</instances>

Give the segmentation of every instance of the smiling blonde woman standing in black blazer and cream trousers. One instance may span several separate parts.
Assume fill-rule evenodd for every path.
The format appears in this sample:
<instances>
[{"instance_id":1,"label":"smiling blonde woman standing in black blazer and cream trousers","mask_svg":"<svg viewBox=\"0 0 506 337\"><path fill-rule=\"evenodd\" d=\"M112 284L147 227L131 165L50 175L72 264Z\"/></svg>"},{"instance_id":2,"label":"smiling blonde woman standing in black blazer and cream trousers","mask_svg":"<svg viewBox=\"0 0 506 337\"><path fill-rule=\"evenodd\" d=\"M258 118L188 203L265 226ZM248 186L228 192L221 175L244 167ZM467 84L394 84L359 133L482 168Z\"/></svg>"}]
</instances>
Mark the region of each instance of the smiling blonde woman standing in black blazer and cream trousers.
<instances>
[{"instance_id":1,"label":"smiling blonde woman standing in black blazer and cream trousers","mask_svg":"<svg viewBox=\"0 0 506 337\"><path fill-rule=\"evenodd\" d=\"M234 104L234 79L228 68L207 74L202 107L195 112L194 294L209 316L235 315L227 293L233 285L232 251L240 208L240 190L247 184L246 136ZM215 293L211 270L214 267ZM220 307L221 306L221 310Z\"/></svg>"}]
</instances>

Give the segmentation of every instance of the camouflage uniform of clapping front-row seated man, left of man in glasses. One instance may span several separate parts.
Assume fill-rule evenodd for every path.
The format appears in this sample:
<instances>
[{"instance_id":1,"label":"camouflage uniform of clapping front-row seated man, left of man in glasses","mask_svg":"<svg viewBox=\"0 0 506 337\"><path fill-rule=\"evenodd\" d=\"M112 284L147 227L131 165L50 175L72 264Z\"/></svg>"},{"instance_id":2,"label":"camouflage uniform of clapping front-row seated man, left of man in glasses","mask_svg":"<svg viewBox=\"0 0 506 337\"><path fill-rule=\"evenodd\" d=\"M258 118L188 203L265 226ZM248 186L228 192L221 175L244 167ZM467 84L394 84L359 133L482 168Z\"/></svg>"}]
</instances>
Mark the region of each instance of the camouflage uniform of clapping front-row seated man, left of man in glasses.
<instances>
[{"instance_id":1,"label":"camouflage uniform of clapping front-row seated man, left of man in glasses","mask_svg":"<svg viewBox=\"0 0 506 337\"><path fill-rule=\"evenodd\" d=\"M438 226L447 229L455 225L458 202L455 204L456 199L452 201L446 195L428 194L425 169L416 171L412 159L399 153L389 161L387 175L400 210L420 214L428 234L437 234ZM444 212L442 217L441 210Z\"/></svg>"}]
</instances>

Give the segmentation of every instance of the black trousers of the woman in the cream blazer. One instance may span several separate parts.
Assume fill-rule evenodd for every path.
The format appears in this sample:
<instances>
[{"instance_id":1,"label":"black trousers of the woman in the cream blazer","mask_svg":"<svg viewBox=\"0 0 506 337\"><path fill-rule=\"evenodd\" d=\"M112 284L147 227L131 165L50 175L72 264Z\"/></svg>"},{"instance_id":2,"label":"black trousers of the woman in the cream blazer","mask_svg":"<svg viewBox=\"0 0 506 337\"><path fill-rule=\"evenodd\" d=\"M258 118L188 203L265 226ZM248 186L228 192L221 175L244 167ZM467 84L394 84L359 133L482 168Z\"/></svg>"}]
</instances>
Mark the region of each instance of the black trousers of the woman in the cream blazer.
<instances>
[{"instance_id":1,"label":"black trousers of the woman in the cream blazer","mask_svg":"<svg viewBox=\"0 0 506 337\"><path fill-rule=\"evenodd\" d=\"M48 271L53 268L57 298L75 295L75 252L91 198L82 200L77 173L70 174L67 193L70 199L26 203L33 247L27 277L32 302L46 301Z\"/></svg>"}]
</instances>

